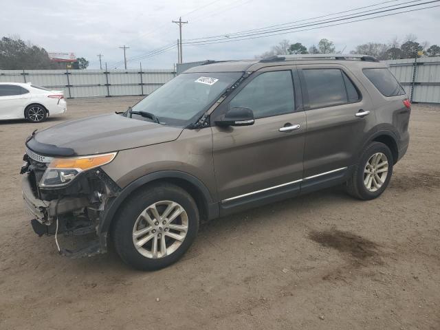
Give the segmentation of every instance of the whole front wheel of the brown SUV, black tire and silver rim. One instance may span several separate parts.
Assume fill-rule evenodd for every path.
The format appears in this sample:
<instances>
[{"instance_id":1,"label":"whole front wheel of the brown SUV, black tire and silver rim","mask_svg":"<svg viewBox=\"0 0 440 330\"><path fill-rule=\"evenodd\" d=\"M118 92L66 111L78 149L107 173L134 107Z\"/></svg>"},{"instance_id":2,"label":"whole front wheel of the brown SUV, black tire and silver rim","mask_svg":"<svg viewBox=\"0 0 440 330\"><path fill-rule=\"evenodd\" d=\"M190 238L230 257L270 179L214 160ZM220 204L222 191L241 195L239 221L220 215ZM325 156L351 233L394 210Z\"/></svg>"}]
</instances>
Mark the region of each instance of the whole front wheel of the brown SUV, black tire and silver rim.
<instances>
[{"instance_id":1,"label":"whole front wheel of the brown SUV, black tire and silver rim","mask_svg":"<svg viewBox=\"0 0 440 330\"><path fill-rule=\"evenodd\" d=\"M170 221L175 214L179 215ZM124 202L115 217L111 237L124 263L137 270L159 270L184 255L198 230L199 210L194 199L184 189L164 183L137 190Z\"/></svg>"}]
</instances>

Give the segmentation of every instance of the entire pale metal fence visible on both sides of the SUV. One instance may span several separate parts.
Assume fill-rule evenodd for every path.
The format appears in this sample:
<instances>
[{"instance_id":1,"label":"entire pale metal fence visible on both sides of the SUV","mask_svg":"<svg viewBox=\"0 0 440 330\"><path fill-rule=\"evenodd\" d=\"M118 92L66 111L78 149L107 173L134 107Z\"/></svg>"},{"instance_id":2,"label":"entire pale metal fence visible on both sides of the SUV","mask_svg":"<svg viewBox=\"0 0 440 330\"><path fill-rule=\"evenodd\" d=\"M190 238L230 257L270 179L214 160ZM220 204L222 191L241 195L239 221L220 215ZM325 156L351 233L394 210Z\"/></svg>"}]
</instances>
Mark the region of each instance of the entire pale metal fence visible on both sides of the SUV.
<instances>
[{"instance_id":1,"label":"entire pale metal fence visible on both sides of the SUV","mask_svg":"<svg viewBox=\"0 0 440 330\"><path fill-rule=\"evenodd\" d=\"M210 61L182 63L177 74ZM440 57L386 61L412 102L440 103ZM63 90L67 98L148 95L174 78L172 69L153 70L0 70L0 82L32 82Z\"/></svg>"}]
</instances>

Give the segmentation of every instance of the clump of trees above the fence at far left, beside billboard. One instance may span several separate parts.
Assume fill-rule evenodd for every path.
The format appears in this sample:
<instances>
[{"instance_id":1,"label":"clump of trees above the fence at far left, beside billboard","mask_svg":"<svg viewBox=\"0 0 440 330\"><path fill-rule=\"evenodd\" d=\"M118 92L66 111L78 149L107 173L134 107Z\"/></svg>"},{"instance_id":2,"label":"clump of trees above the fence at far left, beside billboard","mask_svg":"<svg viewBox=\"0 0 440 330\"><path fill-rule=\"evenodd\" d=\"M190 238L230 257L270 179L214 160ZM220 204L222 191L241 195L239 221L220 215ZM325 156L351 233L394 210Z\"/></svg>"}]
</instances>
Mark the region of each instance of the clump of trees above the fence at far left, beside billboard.
<instances>
[{"instance_id":1,"label":"clump of trees above the fence at far left, beside billboard","mask_svg":"<svg viewBox=\"0 0 440 330\"><path fill-rule=\"evenodd\" d=\"M42 47L25 43L19 37L6 37L0 40L0 69L50 69L52 63Z\"/></svg>"}]
</instances>

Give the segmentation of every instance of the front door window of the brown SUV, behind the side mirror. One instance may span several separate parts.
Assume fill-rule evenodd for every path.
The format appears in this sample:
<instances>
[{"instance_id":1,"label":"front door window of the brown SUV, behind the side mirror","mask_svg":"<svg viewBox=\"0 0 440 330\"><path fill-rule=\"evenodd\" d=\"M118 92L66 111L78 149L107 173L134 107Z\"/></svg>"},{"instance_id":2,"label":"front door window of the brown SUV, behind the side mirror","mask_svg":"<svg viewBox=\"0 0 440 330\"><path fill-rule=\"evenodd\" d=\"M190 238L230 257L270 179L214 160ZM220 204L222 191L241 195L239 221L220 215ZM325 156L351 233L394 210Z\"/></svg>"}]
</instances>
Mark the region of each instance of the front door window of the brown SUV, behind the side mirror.
<instances>
[{"instance_id":1,"label":"front door window of the brown SUV, behind the side mirror","mask_svg":"<svg viewBox=\"0 0 440 330\"><path fill-rule=\"evenodd\" d=\"M255 118L293 112L295 102L291 72L265 72L256 76L231 100L229 107L252 109Z\"/></svg>"}]
</instances>

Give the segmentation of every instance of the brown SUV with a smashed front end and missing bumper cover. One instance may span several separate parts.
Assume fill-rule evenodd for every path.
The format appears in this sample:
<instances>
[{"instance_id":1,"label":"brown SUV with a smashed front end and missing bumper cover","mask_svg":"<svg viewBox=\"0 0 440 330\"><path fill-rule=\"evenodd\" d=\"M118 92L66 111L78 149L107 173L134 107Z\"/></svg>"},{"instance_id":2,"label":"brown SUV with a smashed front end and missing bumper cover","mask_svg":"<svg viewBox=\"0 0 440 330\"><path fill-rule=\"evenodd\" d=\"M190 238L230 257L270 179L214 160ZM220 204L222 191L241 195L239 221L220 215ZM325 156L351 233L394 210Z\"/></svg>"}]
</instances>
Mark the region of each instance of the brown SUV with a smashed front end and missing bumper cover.
<instances>
[{"instance_id":1,"label":"brown SUV with a smashed front end and missing bumper cover","mask_svg":"<svg viewBox=\"0 0 440 330\"><path fill-rule=\"evenodd\" d=\"M62 254L113 243L155 270L188 250L201 221L338 184L378 197L408 148L409 118L404 89L370 56L202 65L123 113L34 132L23 197L34 231L55 235ZM60 234L94 238L68 250Z\"/></svg>"}]
</instances>

